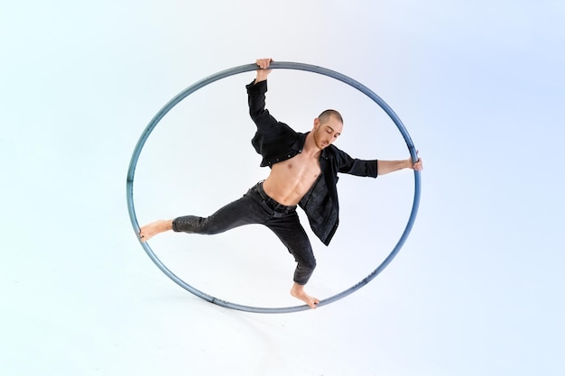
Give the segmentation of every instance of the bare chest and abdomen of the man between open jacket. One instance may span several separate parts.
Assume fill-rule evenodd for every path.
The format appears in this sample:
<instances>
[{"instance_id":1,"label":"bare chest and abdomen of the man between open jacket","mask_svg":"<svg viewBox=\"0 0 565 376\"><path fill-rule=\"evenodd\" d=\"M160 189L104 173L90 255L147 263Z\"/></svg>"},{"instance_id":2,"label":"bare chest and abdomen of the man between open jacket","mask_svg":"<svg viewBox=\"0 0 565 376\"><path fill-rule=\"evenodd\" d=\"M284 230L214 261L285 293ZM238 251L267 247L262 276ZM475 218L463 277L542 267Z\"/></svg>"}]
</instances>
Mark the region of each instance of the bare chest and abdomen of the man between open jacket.
<instances>
[{"instance_id":1,"label":"bare chest and abdomen of the man between open jacket","mask_svg":"<svg viewBox=\"0 0 565 376\"><path fill-rule=\"evenodd\" d=\"M298 205L319 176L318 157L301 153L290 160L273 164L263 183L264 192L279 204Z\"/></svg>"}]
</instances>

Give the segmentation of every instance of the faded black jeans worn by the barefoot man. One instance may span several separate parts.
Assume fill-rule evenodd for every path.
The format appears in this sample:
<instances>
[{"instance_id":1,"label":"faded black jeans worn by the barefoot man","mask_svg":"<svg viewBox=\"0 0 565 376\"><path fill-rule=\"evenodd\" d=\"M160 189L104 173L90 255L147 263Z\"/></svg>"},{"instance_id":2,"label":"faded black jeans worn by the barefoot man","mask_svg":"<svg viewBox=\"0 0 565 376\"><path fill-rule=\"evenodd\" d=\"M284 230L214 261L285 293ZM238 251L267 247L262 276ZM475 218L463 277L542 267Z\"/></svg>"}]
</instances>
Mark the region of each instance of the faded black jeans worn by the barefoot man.
<instances>
[{"instance_id":1,"label":"faded black jeans worn by the barefoot man","mask_svg":"<svg viewBox=\"0 0 565 376\"><path fill-rule=\"evenodd\" d=\"M264 193L257 183L238 200L206 218L180 216L172 221L172 230L189 234L219 234L240 225L260 224L270 228L298 263L294 281L305 285L316 268L316 259L308 235L302 227L296 206L283 206Z\"/></svg>"}]
</instances>

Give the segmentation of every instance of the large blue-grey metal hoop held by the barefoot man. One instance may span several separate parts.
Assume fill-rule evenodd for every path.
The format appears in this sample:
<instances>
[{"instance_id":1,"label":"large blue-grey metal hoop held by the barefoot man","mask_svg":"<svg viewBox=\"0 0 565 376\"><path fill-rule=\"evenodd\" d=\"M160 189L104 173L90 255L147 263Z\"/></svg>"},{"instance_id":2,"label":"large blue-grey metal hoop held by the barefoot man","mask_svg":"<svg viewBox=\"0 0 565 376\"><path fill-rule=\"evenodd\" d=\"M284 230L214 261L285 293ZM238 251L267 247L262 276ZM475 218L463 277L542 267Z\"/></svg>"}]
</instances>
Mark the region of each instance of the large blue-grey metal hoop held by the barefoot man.
<instances>
[{"instance_id":1,"label":"large blue-grey metal hoop held by the barefoot man","mask_svg":"<svg viewBox=\"0 0 565 376\"><path fill-rule=\"evenodd\" d=\"M394 124L396 124L396 127L398 128L400 133L402 133L403 138L404 138L404 142L406 142L406 146L408 147L408 150L410 151L410 155L412 157L412 160L414 162L418 160L416 149L414 148L412 139L410 138L410 135L408 134L408 131L406 131L406 128L404 127L400 118L396 114L394 114L393 109L389 105L387 105L380 96L377 96L368 87L365 87L361 83L357 82L355 79L348 78L347 76L345 76L341 73L338 73L334 70L325 69L325 68L321 68L321 67L310 65L310 64L303 64L303 63L297 63L297 62L273 62L270 65L269 68L270 69L295 69L295 70L304 70L304 71L308 71L308 72L318 73L318 74L323 75L323 76L328 76L329 78L338 79L339 81L342 81L342 82L346 83L347 85L349 85L351 87L357 88L357 90L359 90L360 92L362 92L363 94L365 94L366 96L371 98L377 105L379 105L384 110L384 112L387 115L389 115L389 117L393 120ZM153 129L155 128L155 126L157 126L157 124L159 124L162 117L164 115L166 115L171 110L172 107L179 104L179 102L181 102L182 99L184 99L187 96L190 96L190 94L194 93L195 91L199 90L200 88L205 87L208 84L211 84L212 82L218 81L219 79L227 78L229 76L233 76L233 75L236 75L236 74L239 74L239 73L253 71L253 70L256 70L256 69L257 69L257 66L255 64L247 64L247 65L242 65L242 66L231 68L231 69L222 70L222 71L220 71L220 72L218 72L218 73L216 73L212 76L209 76L208 78L203 78L203 79L199 80L198 82L196 82L195 84L193 84L192 86L187 87L186 89L181 91L181 93L179 93L177 96L174 96L166 105L164 105L162 107L162 109L155 116L153 116L153 119L151 120L151 122L149 122L147 127L145 127L144 133L142 133L139 141L135 145L134 153L132 155L132 159L131 159L130 164L129 164L129 170L127 171L127 182L126 182L127 208L128 208L128 211L129 211L129 216L130 216L132 225L134 227L135 234L139 234L139 231L140 231L140 227L137 223L137 216L135 216L135 209L134 209L134 173L135 173L135 167L137 165L137 160L139 159L139 155L141 154L141 151L144 148L144 144L147 141L147 138L149 137L149 135L153 132ZM357 284L350 287L349 289L345 289L345 290L339 292L338 294L336 294L332 297L320 300L320 303L317 305L318 307L328 305L329 303L333 303L340 298L345 298L345 297L347 297L347 295L353 293L357 289L361 289L368 282L375 279L375 277L381 271L383 271L384 268L386 268L386 266L391 261L393 261L396 254L398 252L400 252L401 248L403 247L404 242L406 241L406 239L408 238L408 235L410 234L410 232L412 230L412 226L414 224L414 221L416 219L416 215L418 213L418 206L420 205L420 191L421 191L420 172L414 170L414 198L413 198L413 204L412 204L412 211L411 211L410 217L408 219L408 223L406 224L406 227L404 228L403 234L401 235L400 239L398 240L398 243L396 243L396 245L394 246L393 251L390 252L389 255L384 259L384 261L381 262L381 264L377 266L375 271L372 271L369 275L366 276L366 278L364 278L363 280L360 280L359 282L357 282ZM148 243L142 243L141 241L140 241L140 243L142 244L142 247L144 248L145 252L149 255L151 260L153 260L153 262L157 265L157 267L159 267L159 269L161 269L161 271L163 273L165 273L169 278L171 278L171 280L176 282L179 286L181 286L181 288L190 291L190 293L196 295L199 298L203 298L205 300L208 300L210 303L214 303L214 304L217 304L218 306L222 306L222 307L237 309L237 310L246 311L246 312L255 312L255 313L290 313L290 312L298 312L298 311L310 309L310 307L307 306L307 305L295 306L295 307L250 307L250 306L244 306L244 305L240 305L240 304L236 304L236 303L231 303L231 302L228 302L226 300L222 300L222 299L219 299L219 298L212 297L212 296L200 291L199 289L193 288L192 286L190 286L190 284L186 283L184 280L181 280L181 278L176 276L172 271L170 271L162 263L161 260L159 260L159 258L155 255L155 253L153 252L153 250L151 249L151 247L149 246Z\"/></svg>"}]
</instances>

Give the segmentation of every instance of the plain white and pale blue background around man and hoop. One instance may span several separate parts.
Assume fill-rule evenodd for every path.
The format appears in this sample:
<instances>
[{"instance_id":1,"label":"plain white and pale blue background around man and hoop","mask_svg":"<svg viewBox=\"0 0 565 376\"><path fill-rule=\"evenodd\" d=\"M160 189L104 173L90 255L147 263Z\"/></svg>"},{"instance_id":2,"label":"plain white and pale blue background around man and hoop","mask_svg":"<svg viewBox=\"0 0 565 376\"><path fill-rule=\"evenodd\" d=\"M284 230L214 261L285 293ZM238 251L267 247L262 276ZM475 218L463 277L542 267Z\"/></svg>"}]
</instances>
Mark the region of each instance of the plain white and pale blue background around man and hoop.
<instances>
[{"instance_id":1,"label":"plain white and pale blue background around man and hoop","mask_svg":"<svg viewBox=\"0 0 565 376\"><path fill-rule=\"evenodd\" d=\"M0 12L3 375L561 375L565 6L560 1L4 2ZM317 310L218 307L144 254L125 201L134 146L172 96L256 58L342 72L394 108L425 161L392 264ZM219 81L158 125L135 175L141 223L207 215L267 171L245 84ZM267 104L301 132L334 107L338 147L408 152L354 89L274 71ZM339 181L341 225L312 243L326 298L390 252L410 171ZM292 306L294 264L259 226L151 242L241 304Z\"/></svg>"}]
</instances>

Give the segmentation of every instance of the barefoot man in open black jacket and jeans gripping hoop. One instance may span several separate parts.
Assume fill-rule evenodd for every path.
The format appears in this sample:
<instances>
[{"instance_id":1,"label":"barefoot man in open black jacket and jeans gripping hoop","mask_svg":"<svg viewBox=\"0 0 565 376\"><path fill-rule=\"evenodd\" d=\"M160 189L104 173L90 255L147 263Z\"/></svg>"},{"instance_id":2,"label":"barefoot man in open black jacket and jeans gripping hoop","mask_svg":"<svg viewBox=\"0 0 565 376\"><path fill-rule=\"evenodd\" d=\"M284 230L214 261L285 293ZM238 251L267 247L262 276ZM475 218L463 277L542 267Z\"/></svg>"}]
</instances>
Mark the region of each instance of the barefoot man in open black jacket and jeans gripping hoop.
<instances>
[{"instance_id":1,"label":"barefoot man in open black jacket and jeans gripping hoop","mask_svg":"<svg viewBox=\"0 0 565 376\"><path fill-rule=\"evenodd\" d=\"M338 172L373 177L410 168L422 170L421 160L357 160L332 145L343 130L341 115L326 110L314 119L311 132L297 133L278 122L264 108L269 65L256 60L255 81L247 85L249 114L257 131L252 140L262 155L261 166L269 166L267 179L250 188L240 199L220 208L212 216L181 216L141 228L142 242L155 234L173 230L189 234L218 234L240 225L262 224L276 234L297 262L291 294L315 308L320 302L304 291L316 259L301 226L296 206L304 209L310 227L322 243L329 244L338 228Z\"/></svg>"}]
</instances>

